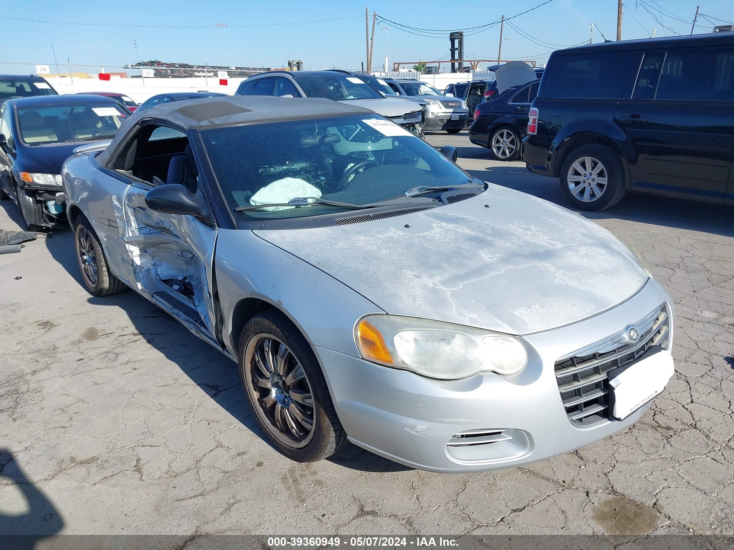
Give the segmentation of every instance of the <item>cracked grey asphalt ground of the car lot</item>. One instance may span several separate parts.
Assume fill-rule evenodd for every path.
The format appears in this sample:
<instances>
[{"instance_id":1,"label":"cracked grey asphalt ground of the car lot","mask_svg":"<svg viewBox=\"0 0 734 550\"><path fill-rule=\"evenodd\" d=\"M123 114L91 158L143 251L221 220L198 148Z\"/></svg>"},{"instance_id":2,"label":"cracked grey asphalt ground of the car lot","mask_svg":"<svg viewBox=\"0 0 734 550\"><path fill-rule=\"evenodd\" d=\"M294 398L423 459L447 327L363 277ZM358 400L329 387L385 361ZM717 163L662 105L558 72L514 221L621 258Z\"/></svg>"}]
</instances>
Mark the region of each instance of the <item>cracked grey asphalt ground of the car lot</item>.
<instances>
[{"instance_id":1,"label":"cracked grey asphalt ground of the car lot","mask_svg":"<svg viewBox=\"0 0 734 550\"><path fill-rule=\"evenodd\" d=\"M465 133L428 139L563 204L557 180L487 160ZM734 534L734 209L635 196L585 215L674 298L675 377L622 433L479 474L356 447L290 462L235 364L133 292L87 294L70 231L0 255L0 534ZM1 202L0 228L19 222Z\"/></svg>"}]
</instances>

